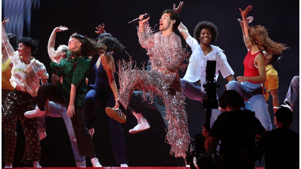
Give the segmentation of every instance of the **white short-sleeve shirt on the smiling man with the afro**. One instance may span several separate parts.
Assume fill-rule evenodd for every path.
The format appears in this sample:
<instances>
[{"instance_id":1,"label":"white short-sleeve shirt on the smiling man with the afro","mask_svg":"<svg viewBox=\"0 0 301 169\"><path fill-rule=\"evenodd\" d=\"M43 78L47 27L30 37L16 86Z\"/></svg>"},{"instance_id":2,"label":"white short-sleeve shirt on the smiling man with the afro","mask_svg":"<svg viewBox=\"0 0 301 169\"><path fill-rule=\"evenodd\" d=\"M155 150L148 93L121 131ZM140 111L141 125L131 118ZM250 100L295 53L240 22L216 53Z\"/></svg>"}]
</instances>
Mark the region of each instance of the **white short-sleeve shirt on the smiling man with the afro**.
<instances>
[{"instance_id":1,"label":"white short-sleeve shirt on the smiling man with the afro","mask_svg":"<svg viewBox=\"0 0 301 169\"><path fill-rule=\"evenodd\" d=\"M192 54L189 59L188 68L183 79L189 82L196 82L200 80L201 84L203 84L206 80L206 64L207 60L215 60L216 68L215 68L215 77L217 80L218 70L221 71L223 78L226 78L229 75L233 75L234 72L227 62L226 55L223 53L224 50L221 50L218 46L210 45L213 50L204 56L204 52L200 47L200 44L197 42L195 38L188 36L186 39L187 44L191 47ZM204 91L204 87L202 85L201 88Z\"/></svg>"}]
</instances>

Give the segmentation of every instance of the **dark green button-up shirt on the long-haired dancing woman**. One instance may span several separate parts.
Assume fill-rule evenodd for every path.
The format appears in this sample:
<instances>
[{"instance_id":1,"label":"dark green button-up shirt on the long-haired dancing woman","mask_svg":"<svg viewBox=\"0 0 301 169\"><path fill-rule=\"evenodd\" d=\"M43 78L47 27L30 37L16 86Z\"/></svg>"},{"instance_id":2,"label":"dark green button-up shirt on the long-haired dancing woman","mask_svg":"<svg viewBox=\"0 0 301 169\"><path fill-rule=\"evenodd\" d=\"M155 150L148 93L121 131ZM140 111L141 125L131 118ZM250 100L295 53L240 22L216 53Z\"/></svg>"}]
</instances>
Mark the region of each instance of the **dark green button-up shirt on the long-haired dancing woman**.
<instances>
[{"instance_id":1,"label":"dark green button-up shirt on the long-haired dancing woman","mask_svg":"<svg viewBox=\"0 0 301 169\"><path fill-rule=\"evenodd\" d=\"M70 57L70 56L69 56ZM86 57L75 57L69 60L62 59L60 64L50 63L52 73L63 76L62 94L66 103L70 100L71 84L76 86L74 106L81 107L87 94L85 79L90 66L90 60Z\"/></svg>"}]
</instances>

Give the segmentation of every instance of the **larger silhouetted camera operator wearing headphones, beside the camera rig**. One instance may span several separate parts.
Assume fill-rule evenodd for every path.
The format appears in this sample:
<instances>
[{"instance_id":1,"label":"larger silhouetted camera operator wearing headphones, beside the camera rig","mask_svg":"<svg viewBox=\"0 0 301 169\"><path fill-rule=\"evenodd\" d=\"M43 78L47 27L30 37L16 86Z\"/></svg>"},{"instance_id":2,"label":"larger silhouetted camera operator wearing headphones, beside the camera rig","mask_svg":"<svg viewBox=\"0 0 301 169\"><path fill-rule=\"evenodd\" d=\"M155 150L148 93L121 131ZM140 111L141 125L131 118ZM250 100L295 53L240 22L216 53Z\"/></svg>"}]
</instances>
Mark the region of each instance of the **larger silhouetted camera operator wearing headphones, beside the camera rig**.
<instances>
[{"instance_id":1,"label":"larger silhouetted camera operator wearing headphones, beside the camera rig","mask_svg":"<svg viewBox=\"0 0 301 169\"><path fill-rule=\"evenodd\" d=\"M262 135L265 129L254 112L240 110L245 103L237 91L225 91L219 99L219 105L225 112L217 117L209 134L203 132L207 138L206 151L214 152L221 140L217 168L254 169L255 136Z\"/></svg>"}]
</instances>

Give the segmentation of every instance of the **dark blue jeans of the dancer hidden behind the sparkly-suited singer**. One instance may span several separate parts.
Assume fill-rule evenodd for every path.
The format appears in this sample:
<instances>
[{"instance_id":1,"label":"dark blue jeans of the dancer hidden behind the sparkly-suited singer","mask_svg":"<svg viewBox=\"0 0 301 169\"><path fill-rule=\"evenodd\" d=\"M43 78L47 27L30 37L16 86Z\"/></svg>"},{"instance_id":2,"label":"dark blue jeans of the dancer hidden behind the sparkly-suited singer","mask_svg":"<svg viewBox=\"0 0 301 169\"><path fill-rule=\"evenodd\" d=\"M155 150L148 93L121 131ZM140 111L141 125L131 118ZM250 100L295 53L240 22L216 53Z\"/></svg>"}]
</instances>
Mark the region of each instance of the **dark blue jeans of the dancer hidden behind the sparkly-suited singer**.
<instances>
[{"instance_id":1,"label":"dark blue jeans of the dancer hidden behind the sparkly-suited singer","mask_svg":"<svg viewBox=\"0 0 301 169\"><path fill-rule=\"evenodd\" d=\"M134 91L134 93L131 96L130 103L129 103L129 111L135 110L136 113L143 112L143 108L149 108L149 109L156 109L159 111L159 113L162 116L162 119L164 120L165 127L168 130L168 121L165 119L166 116L166 107L162 99L155 95L153 99L153 103L150 102L150 95L147 93L147 100L142 101L142 91ZM142 106L142 107L141 107Z\"/></svg>"}]
</instances>

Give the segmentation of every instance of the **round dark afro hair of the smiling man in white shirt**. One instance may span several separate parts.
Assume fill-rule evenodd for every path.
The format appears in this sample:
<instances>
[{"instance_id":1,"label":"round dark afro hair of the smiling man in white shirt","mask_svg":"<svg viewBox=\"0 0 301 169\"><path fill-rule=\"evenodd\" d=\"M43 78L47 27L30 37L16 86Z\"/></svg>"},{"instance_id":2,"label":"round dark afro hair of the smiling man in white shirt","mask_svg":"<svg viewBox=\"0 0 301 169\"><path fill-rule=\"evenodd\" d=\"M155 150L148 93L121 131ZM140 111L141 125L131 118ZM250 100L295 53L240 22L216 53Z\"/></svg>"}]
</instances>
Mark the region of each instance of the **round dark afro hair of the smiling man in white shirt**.
<instances>
[{"instance_id":1,"label":"round dark afro hair of the smiling man in white shirt","mask_svg":"<svg viewBox=\"0 0 301 169\"><path fill-rule=\"evenodd\" d=\"M200 33L201 30L204 28L207 28L211 31L211 37L212 37L211 43L216 42L218 36L217 27L215 26L214 23L208 21L202 21L196 25L193 31L193 37L200 43Z\"/></svg>"}]
</instances>

